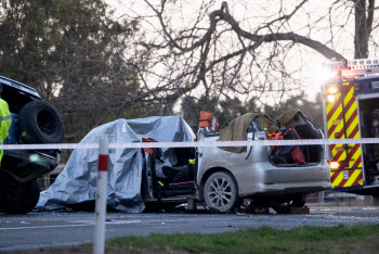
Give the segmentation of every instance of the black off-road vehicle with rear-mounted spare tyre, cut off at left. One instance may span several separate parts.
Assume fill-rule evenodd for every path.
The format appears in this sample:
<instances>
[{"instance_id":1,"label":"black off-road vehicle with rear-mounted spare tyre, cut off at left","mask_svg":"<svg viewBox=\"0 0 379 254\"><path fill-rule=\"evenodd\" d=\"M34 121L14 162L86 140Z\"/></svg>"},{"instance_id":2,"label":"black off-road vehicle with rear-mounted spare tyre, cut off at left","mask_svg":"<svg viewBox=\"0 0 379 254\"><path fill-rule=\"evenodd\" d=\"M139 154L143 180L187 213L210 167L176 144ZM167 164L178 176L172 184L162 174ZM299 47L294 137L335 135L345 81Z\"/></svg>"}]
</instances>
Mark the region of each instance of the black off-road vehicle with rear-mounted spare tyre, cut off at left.
<instances>
[{"instance_id":1,"label":"black off-road vehicle with rear-mounted spare tyre, cut off at left","mask_svg":"<svg viewBox=\"0 0 379 254\"><path fill-rule=\"evenodd\" d=\"M0 88L12 115L4 144L63 141L62 117L34 88L1 76ZM4 150L0 168L0 213L30 212L39 199L37 178L54 170L60 153L61 150Z\"/></svg>"}]
</instances>

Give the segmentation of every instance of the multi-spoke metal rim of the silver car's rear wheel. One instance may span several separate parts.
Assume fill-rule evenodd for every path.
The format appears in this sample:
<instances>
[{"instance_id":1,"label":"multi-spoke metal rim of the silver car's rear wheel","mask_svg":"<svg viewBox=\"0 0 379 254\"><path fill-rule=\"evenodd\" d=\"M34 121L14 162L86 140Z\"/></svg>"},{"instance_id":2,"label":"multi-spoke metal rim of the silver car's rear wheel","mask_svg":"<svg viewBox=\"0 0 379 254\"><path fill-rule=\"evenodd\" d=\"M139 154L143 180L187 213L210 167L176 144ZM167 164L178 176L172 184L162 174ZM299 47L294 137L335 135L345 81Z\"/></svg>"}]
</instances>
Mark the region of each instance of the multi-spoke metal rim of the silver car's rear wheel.
<instances>
[{"instance_id":1,"label":"multi-spoke metal rim of the silver car's rear wheel","mask_svg":"<svg viewBox=\"0 0 379 254\"><path fill-rule=\"evenodd\" d=\"M208 187L209 203L217 209L226 208L233 200L232 191L232 186L225 178L214 178Z\"/></svg>"}]
</instances>

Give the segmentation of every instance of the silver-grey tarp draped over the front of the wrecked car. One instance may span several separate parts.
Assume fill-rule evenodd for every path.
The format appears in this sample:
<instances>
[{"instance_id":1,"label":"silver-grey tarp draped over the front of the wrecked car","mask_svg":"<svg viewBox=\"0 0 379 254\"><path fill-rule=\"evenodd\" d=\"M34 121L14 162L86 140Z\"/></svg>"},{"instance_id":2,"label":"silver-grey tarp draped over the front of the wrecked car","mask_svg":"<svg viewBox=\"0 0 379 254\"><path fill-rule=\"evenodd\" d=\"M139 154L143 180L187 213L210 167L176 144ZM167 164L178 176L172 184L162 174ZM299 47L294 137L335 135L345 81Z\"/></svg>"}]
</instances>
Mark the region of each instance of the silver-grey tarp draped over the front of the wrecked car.
<instances>
[{"instance_id":1,"label":"silver-grey tarp draped over the front of the wrecked car","mask_svg":"<svg viewBox=\"0 0 379 254\"><path fill-rule=\"evenodd\" d=\"M141 119L117 119L92 129L80 143L99 142L107 137L110 143L158 141L193 141L195 135L180 116L152 116ZM167 165L174 158L173 149L162 149ZM141 149L109 149L107 204L126 213L141 213L145 206L141 195L146 175L146 155ZM54 183L41 193L38 209L92 209L96 192L99 151L75 150Z\"/></svg>"}]
</instances>

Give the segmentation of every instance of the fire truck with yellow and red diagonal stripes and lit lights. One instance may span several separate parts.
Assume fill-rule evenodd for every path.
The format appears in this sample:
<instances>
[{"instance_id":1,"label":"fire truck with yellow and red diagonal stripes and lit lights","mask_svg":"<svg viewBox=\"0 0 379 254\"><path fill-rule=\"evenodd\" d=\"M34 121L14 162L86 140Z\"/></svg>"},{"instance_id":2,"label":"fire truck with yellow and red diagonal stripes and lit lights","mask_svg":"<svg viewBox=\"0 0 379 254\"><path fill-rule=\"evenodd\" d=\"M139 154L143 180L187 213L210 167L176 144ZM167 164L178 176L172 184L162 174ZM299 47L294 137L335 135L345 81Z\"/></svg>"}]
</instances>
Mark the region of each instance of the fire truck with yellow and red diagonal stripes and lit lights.
<instances>
[{"instance_id":1,"label":"fire truck with yellow and red diagonal stripes and lit lights","mask_svg":"<svg viewBox=\"0 0 379 254\"><path fill-rule=\"evenodd\" d=\"M379 138L379 60L325 64L323 86L328 139ZM336 191L373 195L379 205L379 143L329 145L330 181Z\"/></svg>"}]
</instances>

